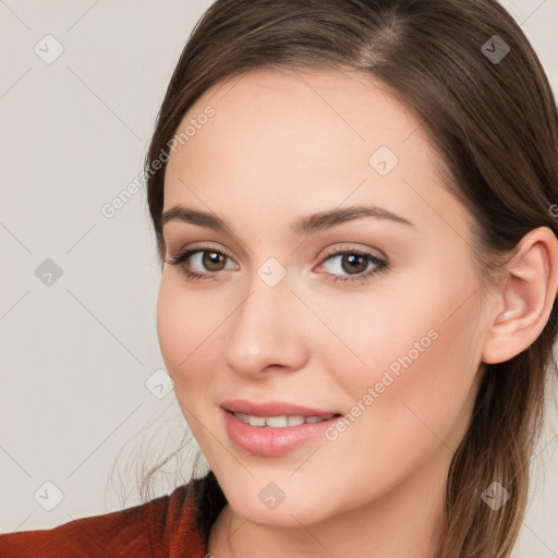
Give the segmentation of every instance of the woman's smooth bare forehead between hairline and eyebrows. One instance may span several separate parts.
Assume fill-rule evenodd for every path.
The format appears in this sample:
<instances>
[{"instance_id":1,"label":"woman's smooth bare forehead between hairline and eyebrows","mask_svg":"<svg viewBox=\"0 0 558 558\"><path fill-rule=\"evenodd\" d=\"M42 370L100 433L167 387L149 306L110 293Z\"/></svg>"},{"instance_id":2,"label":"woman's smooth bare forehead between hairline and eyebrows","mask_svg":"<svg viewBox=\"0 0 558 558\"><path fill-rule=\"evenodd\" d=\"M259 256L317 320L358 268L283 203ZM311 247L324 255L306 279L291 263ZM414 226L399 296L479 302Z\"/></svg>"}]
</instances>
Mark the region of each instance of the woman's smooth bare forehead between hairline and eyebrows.
<instances>
[{"instance_id":1,"label":"woman's smooth bare forehead between hairline and eyebrows","mask_svg":"<svg viewBox=\"0 0 558 558\"><path fill-rule=\"evenodd\" d=\"M208 107L214 116L201 119ZM254 70L209 88L177 132L189 124L195 133L167 167L165 209L209 205L236 219L250 201L267 219L272 209L303 214L343 203L425 219L433 204L464 211L440 189L440 161L421 123L362 74Z\"/></svg>"}]
</instances>

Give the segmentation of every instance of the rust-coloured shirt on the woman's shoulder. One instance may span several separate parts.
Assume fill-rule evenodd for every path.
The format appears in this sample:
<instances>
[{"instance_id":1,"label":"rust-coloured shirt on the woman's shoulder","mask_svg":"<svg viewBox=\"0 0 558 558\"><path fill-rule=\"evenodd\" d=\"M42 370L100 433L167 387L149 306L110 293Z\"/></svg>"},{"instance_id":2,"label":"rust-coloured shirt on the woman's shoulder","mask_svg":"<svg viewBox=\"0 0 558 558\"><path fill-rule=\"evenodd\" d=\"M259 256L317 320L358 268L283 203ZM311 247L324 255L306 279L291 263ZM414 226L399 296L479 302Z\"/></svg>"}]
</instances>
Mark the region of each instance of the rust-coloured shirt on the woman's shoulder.
<instances>
[{"instance_id":1,"label":"rust-coloured shirt on the woman's shoulder","mask_svg":"<svg viewBox=\"0 0 558 558\"><path fill-rule=\"evenodd\" d=\"M0 534L0 557L204 558L207 548L185 486L125 510L53 529Z\"/></svg>"}]
</instances>

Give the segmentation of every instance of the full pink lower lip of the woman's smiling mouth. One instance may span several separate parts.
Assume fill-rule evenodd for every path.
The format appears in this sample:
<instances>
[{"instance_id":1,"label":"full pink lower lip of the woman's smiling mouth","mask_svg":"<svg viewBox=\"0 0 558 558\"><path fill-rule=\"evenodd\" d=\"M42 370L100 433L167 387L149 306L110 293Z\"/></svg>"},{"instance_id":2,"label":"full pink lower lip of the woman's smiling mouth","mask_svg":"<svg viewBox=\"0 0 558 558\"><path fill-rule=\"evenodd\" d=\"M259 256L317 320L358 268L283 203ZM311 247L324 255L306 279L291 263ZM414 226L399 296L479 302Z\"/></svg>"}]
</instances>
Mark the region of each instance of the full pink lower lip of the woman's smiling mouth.
<instances>
[{"instance_id":1,"label":"full pink lower lip of the woman's smiling mouth","mask_svg":"<svg viewBox=\"0 0 558 558\"><path fill-rule=\"evenodd\" d=\"M225 423L229 438L242 449L258 456L281 456L303 444L324 435L339 416L319 423L304 423L299 426L272 428L271 426L252 426L231 412L225 411Z\"/></svg>"}]
</instances>

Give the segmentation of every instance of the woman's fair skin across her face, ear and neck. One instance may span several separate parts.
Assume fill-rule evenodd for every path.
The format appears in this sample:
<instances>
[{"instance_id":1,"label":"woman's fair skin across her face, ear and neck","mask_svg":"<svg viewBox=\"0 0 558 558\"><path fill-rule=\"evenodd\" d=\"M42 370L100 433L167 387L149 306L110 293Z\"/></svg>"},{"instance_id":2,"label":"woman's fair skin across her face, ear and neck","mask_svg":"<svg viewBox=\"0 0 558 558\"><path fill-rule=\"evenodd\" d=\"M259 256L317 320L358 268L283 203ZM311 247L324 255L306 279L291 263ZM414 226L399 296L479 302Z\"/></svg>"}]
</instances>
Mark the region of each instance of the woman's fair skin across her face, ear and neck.
<instances>
[{"instance_id":1,"label":"woman's fair skin across her face, ear and neck","mask_svg":"<svg viewBox=\"0 0 558 558\"><path fill-rule=\"evenodd\" d=\"M529 347L550 313L556 238L547 228L527 234L483 295L471 216L444 189L427 136L362 75L251 71L207 90L179 130L208 105L215 117L171 155L163 210L210 211L234 232L169 221L167 258L201 242L227 258L204 267L207 253L194 256L192 270L220 274L195 282L166 263L157 307L177 398L229 501L208 549L218 558L430 557L483 363ZM399 158L384 177L368 162L379 146ZM310 235L289 229L307 214L365 204L412 226L361 218ZM326 248L367 252L389 268L333 282L327 274L363 275L374 264L351 271L341 256L326 260ZM275 287L257 275L269 257L287 272ZM228 437L226 399L350 413L432 330L437 338L337 439L262 457ZM269 482L286 494L275 509L258 498Z\"/></svg>"}]
</instances>

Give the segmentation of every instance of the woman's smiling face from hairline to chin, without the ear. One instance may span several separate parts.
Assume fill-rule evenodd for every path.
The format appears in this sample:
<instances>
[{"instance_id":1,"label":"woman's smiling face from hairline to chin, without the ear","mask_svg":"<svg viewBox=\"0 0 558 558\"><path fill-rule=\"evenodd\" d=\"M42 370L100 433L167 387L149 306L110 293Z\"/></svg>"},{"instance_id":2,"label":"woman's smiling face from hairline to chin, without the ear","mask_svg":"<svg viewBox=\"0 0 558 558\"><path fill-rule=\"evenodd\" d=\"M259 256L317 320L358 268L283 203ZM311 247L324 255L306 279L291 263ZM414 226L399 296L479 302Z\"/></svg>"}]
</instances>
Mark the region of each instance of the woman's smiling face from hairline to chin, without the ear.
<instances>
[{"instance_id":1,"label":"woman's smiling face from hairline to chin, without the ear","mask_svg":"<svg viewBox=\"0 0 558 558\"><path fill-rule=\"evenodd\" d=\"M189 124L166 171L157 328L230 506L298 526L432 495L487 320L470 216L420 123L362 75L257 70Z\"/></svg>"}]
</instances>

